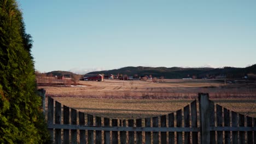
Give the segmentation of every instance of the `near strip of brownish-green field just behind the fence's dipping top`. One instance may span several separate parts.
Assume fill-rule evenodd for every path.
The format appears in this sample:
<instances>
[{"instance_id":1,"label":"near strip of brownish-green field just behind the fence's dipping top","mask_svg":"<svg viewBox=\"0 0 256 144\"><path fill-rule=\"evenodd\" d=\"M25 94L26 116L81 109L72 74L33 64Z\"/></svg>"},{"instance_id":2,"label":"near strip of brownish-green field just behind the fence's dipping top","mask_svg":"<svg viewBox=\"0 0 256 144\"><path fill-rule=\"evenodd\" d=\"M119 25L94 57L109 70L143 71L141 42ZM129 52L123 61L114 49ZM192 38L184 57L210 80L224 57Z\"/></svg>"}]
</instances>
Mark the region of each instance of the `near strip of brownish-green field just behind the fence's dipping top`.
<instances>
[{"instance_id":1,"label":"near strip of brownish-green field just behind the fence's dipping top","mask_svg":"<svg viewBox=\"0 0 256 144\"><path fill-rule=\"evenodd\" d=\"M192 99L95 99L54 98L80 112L109 118L146 118L183 109ZM256 99L214 99L229 110L256 117Z\"/></svg>"}]
</instances>

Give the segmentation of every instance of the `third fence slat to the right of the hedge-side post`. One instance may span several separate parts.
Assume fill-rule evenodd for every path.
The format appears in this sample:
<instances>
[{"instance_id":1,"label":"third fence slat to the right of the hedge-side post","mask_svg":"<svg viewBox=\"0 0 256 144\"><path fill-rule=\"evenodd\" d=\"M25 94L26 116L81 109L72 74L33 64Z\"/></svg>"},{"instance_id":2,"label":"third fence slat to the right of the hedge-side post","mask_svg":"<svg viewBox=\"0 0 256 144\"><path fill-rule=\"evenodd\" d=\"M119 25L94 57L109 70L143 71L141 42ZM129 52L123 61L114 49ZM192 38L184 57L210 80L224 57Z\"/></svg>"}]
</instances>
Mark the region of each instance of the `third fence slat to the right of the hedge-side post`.
<instances>
[{"instance_id":1,"label":"third fence slat to the right of the hedge-side post","mask_svg":"<svg viewBox=\"0 0 256 144\"><path fill-rule=\"evenodd\" d=\"M69 107L63 106L63 124L69 124ZM69 144L69 129L63 129L63 143Z\"/></svg>"}]
</instances>

